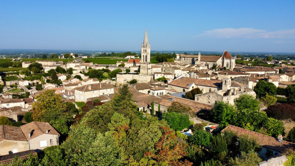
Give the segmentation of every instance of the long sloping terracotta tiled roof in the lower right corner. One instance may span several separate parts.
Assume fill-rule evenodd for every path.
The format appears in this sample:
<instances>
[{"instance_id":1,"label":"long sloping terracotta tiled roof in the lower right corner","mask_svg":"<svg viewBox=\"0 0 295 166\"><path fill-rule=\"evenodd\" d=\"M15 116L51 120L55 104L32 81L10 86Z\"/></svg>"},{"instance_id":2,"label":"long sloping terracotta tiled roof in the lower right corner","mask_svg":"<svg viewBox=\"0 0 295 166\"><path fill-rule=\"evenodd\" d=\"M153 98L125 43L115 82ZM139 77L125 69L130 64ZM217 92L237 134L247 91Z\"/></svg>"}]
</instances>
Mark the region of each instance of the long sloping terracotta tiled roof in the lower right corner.
<instances>
[{"instance_id":1,"label":"long sloping terracotta tiled roof in the lower right corner","mask_svg":"<svg viewBox=\"0 0 295 166\"><path fill-rule=\"evenodd\" d=\"M271 136L260 134L260 133L250 131L244 128L240 128L237 126L233 126L233 125L228 125L221 132L224 132L224 131L233 131L237 133L238 136L242 136L243 134L245 134L249 138L253 137L257 140L260 146L275 150L277 152L283 152L286 148L292 148L292 149L295 148L294 143L291 143L288 141L279 142L276 138L273 138Z\"/></svg>"}]
</instances>

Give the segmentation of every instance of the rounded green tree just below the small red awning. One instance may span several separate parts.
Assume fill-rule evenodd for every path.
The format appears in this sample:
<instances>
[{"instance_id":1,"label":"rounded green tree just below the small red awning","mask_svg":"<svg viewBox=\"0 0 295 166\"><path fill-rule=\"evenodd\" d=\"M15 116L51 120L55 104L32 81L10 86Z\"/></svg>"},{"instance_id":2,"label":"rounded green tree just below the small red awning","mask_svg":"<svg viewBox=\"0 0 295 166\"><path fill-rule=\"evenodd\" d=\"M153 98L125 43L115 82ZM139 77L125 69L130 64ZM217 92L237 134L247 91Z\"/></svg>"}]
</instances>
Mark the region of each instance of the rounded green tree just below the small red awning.
<instances>
[{"instance_id":1,"label":"rounded green tree just below the small red awning","mask_svg":"<svg viewBox=\"0 0 295 166\"><path fill-rule=\"evenodd\" d=\"M212 135L204 130L197 130L189 137L189 142L196 146L209 146Z\"/></svg>"}]
</instances>

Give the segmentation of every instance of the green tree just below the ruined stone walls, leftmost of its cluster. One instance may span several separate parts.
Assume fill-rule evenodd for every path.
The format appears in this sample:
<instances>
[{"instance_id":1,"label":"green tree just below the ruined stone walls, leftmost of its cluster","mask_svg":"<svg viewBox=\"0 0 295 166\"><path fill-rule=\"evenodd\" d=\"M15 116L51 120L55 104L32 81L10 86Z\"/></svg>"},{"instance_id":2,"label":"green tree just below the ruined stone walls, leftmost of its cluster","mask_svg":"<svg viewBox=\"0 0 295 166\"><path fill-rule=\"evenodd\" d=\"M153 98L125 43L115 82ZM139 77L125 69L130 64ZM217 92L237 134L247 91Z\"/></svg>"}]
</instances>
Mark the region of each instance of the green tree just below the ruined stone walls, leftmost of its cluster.
<instances>
[{"instance_id":1,"label":"green tree just below the ruined stone walls, leftmost of its cluster","mask_svg":"<svg viewBox=\"0 0 295 166\"><path fill-rule=\"evenodd\" d=\"M220 127L226 127L235 113L235 107L222 101L217 101L213 107L214 121L220 124Z\"/></svg>"}]
</instances>

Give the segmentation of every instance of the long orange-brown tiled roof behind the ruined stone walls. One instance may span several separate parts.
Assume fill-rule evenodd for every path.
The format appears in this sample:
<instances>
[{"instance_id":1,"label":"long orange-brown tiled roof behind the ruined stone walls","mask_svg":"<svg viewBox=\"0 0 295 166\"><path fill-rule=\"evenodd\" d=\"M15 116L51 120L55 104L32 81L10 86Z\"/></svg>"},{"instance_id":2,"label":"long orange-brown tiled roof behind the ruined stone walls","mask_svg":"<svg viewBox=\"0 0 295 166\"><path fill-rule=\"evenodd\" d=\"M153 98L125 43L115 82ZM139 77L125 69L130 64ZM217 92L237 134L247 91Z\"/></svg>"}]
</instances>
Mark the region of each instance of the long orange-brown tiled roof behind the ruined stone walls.
<instances>
[{"instance_id":1,"label":"long orange-brown tiled roof behind the ruined stone walls","mask_svg":"<svg viewBox=\"0 0 295 166\"><path fill-rule=\"evenodd\" d=\"M169 85L174 85L178 87L189 88L189 86L194 83L195 85L207 86L207 87L221 87L222 80L208 80L190 77L181 77L179 79L173 80Z\"/></svg>"}]
</instances>

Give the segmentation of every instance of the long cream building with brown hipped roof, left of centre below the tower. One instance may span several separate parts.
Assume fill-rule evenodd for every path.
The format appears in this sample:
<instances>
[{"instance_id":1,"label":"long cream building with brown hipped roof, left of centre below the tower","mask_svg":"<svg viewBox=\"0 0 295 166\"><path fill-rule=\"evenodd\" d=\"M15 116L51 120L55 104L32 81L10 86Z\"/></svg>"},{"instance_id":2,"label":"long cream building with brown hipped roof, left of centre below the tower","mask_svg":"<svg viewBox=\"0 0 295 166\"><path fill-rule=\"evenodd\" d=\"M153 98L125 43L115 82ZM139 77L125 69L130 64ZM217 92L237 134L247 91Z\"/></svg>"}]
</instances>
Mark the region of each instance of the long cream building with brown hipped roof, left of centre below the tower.
<instances>
[{"instance_id":1,"label":"long cream building with brown hipped roof, left of centre below the tower","mask_svg":"<svg viewBox=\"0 0 295 166\"><path fill-rule=\"evenodd\" d=\"M107 83L89 84L74 88L75 101L86 102L88 98L114 93L114 85Z\"/></svg>"}]
</instances>

